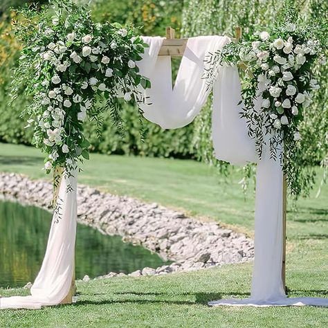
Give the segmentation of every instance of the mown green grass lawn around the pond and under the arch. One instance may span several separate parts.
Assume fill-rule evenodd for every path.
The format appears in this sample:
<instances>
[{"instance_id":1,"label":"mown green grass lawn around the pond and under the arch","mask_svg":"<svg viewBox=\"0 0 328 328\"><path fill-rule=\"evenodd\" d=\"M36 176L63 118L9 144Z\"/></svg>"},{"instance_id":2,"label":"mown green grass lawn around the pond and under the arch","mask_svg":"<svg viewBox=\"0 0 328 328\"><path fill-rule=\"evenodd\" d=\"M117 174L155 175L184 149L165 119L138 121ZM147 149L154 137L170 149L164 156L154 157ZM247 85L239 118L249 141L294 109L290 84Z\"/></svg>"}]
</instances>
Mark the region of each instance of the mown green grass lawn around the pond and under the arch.
<instances>
[{"instance_id":1,"label":"mown green grass lawn around the pond and under the arch","mask_svg":"<svg viewBox=\"0 0 328 328\"><path fill-rule=\"evenodd\" d=\"M45 178L37 149L0 144L0 172ZM318 169L318 174L320 170ZM49 177L48 177L49 178ZM254 197L194 161L92 154L80 183L179 208L253 232ZM289 211L286 281L289 295L328 297L328 186ZM209 308L209 300L249 295L252 264L160 277L115 277L79 283L77 304L40 311L0 311L0 327L328 327L328 309ZM16 289L1 295L24 294Z\"/></svg>"}]
</instances>

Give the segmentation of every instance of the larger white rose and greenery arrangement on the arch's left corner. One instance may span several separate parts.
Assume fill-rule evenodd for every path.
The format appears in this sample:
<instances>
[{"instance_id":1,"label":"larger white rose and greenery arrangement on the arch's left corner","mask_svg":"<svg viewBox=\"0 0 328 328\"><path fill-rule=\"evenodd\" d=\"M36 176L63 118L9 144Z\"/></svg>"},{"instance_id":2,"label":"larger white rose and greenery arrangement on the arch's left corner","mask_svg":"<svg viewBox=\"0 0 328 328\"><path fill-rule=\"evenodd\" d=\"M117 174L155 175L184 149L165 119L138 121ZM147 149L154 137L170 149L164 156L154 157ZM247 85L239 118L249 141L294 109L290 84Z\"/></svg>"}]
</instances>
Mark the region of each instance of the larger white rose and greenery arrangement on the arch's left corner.
<instances>
[{"instance_id":1,"label":"larger white rose and greenery arrangement on the arch's left corner","mask_svg":"<svg viewBox=\"0 0 328 328\"><path fill-rule=\"evenodd\" d=\"M34 129L34 145L46 153L46 172L55 167L70 172L78 160L89 159L86 116L101 125L101 113L109 110L122 127L122 101L144 101L142 90L150 83L136 61L147 45L132 26L95 24L87 7L50 2L42 10L18 12L15 33L23 48L12 95L24 90L32 96L24 114Z\"/></svg>"}]
</instances>

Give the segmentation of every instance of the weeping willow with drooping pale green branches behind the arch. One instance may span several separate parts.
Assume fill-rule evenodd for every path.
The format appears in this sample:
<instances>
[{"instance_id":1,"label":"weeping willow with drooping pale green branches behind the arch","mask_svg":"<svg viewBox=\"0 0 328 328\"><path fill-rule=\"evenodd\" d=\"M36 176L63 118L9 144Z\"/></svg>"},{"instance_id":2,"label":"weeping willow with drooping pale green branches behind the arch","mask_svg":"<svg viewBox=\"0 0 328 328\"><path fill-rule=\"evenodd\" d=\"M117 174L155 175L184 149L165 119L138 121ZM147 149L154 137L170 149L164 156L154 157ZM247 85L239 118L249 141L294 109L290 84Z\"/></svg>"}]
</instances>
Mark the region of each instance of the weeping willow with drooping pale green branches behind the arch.
<instances>
[{"instance_id":1,"label":"weeping willow with drooping pale green branches behind the arch","mask_svg":"<svg viewBox=\"0 0 328 328\"><path fill-rule=\"evenodd\" d=\"M243 38L261 28L271 28L286 17L296 24L313 26L313 33L322 40L327 57L325 34L328 33L328 1L322 0L189 0L183 8L182 34L195 35L233 35L235 26L242 26ZM316 176L315 165L328 167L328 64L321 60L316 66L320 91L309 107L300 129L302 140L296 149L298 165L294 167L298 188L293 196L308 195ZM215 163L224 170L228 167L219 163L212 155L210 141L210 104L194 122L194 149L201 160ZM244 168L246 176L252 176L252 168ZM325 179L325 176L323 176Z\"/></svg>"}]
</instances>

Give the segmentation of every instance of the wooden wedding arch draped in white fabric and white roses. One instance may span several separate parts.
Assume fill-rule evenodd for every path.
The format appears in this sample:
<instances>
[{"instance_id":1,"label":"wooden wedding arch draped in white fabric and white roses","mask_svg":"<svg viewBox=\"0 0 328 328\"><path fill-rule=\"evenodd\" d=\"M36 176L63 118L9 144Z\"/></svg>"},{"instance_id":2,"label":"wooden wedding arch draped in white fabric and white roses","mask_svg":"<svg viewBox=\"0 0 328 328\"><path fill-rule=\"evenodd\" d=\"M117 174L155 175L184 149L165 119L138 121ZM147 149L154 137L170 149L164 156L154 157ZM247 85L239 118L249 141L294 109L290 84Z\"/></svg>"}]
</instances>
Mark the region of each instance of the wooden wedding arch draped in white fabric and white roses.
<instances>
[{"instance_id":1,"label":"wooden wedding arch draped in white fabric and white roses","mask_svg":"<svg viewBox=\"0 0 328 328\"><path fill-rule=\"evenodd\" d=\"M55 2L62 3L60 0ZM71 10L70 7L65 6L60 8ZM275 106L280 116L277 114L273 116L271 113L271 120L266 121L270 129L268 133L263 134L260 155L258 139L250 134L248 125L250 120L257 118L260 113L264 112L264 109L271 106L271 98L268 98L266 93L268 87L271 88L268 85L266 73L262 73L266 79L254 79L261 93L257 94L256 99L252 98L253 116L241 117L240 113L245 107L249 108L250 104L242 102L237 66L231 66L227 64L228 61L226 63L222 61L224 48L231 44L229 37L174 39L174 31L167 28L166 39L163 37L140 38L135 37L131 29L108 24L104 26L95 24L93 34L86 34L83 30L79 34L74 30L77 18L79 18L79 24L83 23L83 19L90 24L89 17L84 12L74 11L75 16L68 17L61 23L63 14L61 10L60 15L53 17L53 29L48 30L48 34L44 36L46 42L53 40L48 43L48 49L35 44L33 48L27 46L22 55L23 64L18 70L21 73L30 69L24 60L26 57L32 58L30 64L37 69L43 65L41 74L46 76L44 81L48 81L44 84L30 84L31 93L36 96L28 113L30 113L29 123L35 127L35 143L47 154L45 168L48 172L55 168L55 210L51 231L42 268L31 288L31 295L0 298L0 309L39 309L42 306L72 301L77 217L78 165L76 161L80 156L89 158L87 152L89 143L81 132L82 123L86 113L93 116L95 120L99 118L95 109L97 100L95 94L98 95L98 91L107 99L107 102L110 102L108 107L113 109L114 118L118 115L118 98L124 98L126 101L133 98L147 120L164 129L176 129L194 120L212 90L212 140L216 157L235 165L257 164L255 264L250 298L219 300L210 302L210 305L328 306L328 300L320 298L286 298L284 290L286 181L283 163L278 160L283 158L284 143L282 139L276 140L273 153L271 140L281 136L281 124L284 125L284 122L288 120L286 115L291 115L287 114L284 109L289 109L291 103ZM45 17L42 23L45 24L46 19ZM48 28L42 24L39 26L44 28L44 31ZM56 26L60 27L56 30ZM70 26L70 33L67 34ZM65 35L60 28L63 28ZM238 40L241 37L241 29L237 28L236 32ZM267 34L264 33L258 37L265 42L268 40ZM68 41L62 42L61 39L55 39L58 35L66 37ZM38 34L35 37L39 37ZM292 44L292 42L284 43L284 41L282 43L283 47L286 47L286 43ZM254 45L257 50L259 46L261 45ZM264 47L265 44L262 46ZM282 49L279 47L280 45L277 44L275 49ZM293 45L290 47L293 48ZM311 53L310 45L307 48L310 49L308 53ZM42 53L42 62L40 57L32 55L33 51ZM257 57L259 53L263 58L268 58L268 53L266 54L264 50L254 51L257 61L260 61ZM209 54L212 60L207 60ZM217 60L215 54L221 55L221 59ZM305 54L307 50L304 47L301 55L306 57ZM171 55L182 56L173 87ZM252 56L253 53L248 53L248 62L252 62ZM275 57L275 60L284 62L280 58L284 59L279 56L279 58ZM302 60L301 56L299 58ZM281 65L286 65L286 62ZM294 63L289 63L289 65L294 65ZM295 64L295 70L298 65L300 64ZM203 78L204 72L208 72L209 78ZM286 68L281 71L282 81L291 80L286 72ZM272 92L268 92L281 93L284 82L279 85L274 86L275 89ZM288 88L287 84L284 87ZM289 102L295 100L296 103L301 100L302 97L298 95L292 97ZM277 98L274 95L272 97ZM265 100L268 100L269 104ZM73 110L76 108L78 111ZM69 133L66 130L67 125L70 128ZM277 132L272 129L271 125ZM261 126L261 131L262 128L264 127ZM261 134L257 134L257 137L260 136Z\"/></svg>"}]
</instances>

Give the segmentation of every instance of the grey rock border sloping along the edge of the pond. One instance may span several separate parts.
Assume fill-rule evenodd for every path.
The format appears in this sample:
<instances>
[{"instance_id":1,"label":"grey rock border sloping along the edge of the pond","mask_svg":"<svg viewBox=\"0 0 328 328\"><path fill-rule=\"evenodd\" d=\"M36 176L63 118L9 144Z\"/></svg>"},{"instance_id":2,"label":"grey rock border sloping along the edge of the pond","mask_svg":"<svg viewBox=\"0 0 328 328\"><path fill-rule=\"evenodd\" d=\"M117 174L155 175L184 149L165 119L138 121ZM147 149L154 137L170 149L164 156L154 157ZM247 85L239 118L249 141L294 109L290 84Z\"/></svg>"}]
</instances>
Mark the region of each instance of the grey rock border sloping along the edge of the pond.
<instances>
[{"instance_id":1,"label":"grey rock border sloping along the edge of the pond","mask_svg":"<svg viewBox=\"0 0 328 328\"><path fill-rule=\"evenodd\" d=\"M53 185L20 174L0 173L0 196L51 210ZM78 185L78 222L105 235L120 235L125 242L140 244L158 253L170 265L143 268L130 276L165 275L222 264L246 262L254 257L253 241L215 222L197 221L182 212L114 196ZM109 273L101 277L125 275ZM89 277L84 277L87 281Z\"/></svg>"}]
</instances>

